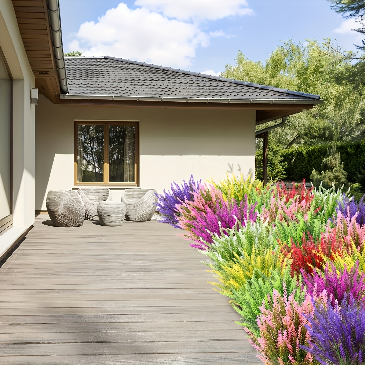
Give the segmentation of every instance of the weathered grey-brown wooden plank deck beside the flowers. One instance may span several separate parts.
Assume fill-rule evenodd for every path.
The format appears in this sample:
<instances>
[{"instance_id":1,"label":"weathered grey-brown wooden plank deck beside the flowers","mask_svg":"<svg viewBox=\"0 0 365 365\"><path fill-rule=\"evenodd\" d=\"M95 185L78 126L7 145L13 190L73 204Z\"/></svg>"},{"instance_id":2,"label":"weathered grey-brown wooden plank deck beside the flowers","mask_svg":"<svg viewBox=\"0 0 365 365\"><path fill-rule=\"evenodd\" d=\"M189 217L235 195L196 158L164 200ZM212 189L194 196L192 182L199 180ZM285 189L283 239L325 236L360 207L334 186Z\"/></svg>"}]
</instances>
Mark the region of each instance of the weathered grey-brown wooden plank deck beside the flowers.
<instances>
[{"instance_id":1,"label":"weathered grey-brown wooden plank deck beside the flowers","mask_svg":"<svg viewBox=\"0 0 365 365\"><path fill-rule=\"evenodd\" d=\"M0 268L0 364L262 364L177 230L48 219Z\"/></svg>"}]
</instances>

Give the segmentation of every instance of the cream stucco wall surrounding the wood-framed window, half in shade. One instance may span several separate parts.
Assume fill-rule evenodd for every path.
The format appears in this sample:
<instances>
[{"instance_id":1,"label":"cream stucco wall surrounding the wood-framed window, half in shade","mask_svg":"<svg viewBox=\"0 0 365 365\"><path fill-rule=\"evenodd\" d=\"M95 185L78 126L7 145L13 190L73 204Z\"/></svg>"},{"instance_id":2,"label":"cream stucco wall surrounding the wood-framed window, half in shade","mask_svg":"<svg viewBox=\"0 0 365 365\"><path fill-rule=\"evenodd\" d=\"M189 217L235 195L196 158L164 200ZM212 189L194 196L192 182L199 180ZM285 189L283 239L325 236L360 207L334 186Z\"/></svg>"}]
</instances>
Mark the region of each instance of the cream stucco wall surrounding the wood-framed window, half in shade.
<instances>
[{"instance_id":1,"label":"cream stucco wall surrounding the wood-framed window, half in shade","mask_svg":"<svg viewBox=\"0 0 365 365\"><path fill-rule=\"evenodd\" d=\"M36 109L35 209L47 192L72 189L74 120L138 120L142 188L168 189L191 174L218 181L255 166L255 111L228 109L76 107L41 95ZM121 188L112 189L120 200Z\"/></svg>"}]
</instances>

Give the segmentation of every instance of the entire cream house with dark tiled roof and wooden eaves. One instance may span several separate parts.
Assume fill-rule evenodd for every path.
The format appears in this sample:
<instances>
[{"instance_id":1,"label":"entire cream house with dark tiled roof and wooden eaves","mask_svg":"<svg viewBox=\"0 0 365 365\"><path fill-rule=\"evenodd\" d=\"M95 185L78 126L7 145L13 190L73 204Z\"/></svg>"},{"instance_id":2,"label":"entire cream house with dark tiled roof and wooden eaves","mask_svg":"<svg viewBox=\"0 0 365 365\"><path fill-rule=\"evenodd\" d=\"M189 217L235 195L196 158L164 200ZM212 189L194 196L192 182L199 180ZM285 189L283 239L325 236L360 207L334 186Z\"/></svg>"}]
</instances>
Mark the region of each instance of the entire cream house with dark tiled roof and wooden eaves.
<instances>
[{"instance_id":1,"label":"entire cream house with dark tiled roof and wooden eaves","mask_svg":"<svg viewBox=\"0 0 365 365\"><path fill-rule=\"evenodd\" d=\"M191 174L247 176L255 126L322 102L128 59L64 57L58 0L1 1L0 55L0 253L46 210L49 190L103 186L120 200L123 189L162 192Z\"/></svg>"}]
</instances>

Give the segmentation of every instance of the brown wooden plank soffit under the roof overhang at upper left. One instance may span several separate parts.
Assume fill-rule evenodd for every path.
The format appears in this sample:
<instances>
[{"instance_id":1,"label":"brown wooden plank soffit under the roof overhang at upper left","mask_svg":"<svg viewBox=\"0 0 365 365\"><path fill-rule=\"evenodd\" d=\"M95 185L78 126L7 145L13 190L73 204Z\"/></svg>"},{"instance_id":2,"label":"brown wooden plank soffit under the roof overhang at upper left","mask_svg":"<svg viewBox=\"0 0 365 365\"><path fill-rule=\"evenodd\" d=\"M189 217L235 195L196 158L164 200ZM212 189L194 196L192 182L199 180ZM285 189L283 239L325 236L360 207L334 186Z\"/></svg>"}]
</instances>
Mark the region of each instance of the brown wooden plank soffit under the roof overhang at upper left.
<instances>
[{"instance_id":1,"label":"brown wooden plank soffit under the roof overhang at upper left","mask_svg":"<svg viewBox=\"0 0 365 365\"><path fill-rule=\"evenodd\" d=\"M58 103L58 72L53 54L46 0L12 0L20 35L35 77L35 87Z\"/></svg>"}]
</instances>

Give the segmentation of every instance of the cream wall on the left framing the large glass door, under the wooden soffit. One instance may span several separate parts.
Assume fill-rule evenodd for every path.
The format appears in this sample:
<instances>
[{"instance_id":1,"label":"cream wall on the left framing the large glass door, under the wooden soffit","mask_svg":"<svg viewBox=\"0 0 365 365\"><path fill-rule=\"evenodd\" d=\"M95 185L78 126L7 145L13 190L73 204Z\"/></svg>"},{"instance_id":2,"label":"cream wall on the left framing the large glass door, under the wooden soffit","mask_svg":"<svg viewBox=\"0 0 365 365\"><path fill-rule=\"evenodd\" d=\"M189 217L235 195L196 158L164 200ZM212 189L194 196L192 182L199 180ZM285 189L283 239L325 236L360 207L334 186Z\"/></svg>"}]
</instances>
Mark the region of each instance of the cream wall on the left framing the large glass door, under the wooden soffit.
<instances>
[{"instance_id":1,"label":"cream wall on the left framing the large glass door, under the wooden soffit","mask_svg":"<svg viewBox=\"0 0 365 365\"><path fill-rule=\"evenodd\" d=\"M30 104L30 91L35 80L11 0L0 1L0 46L14 78L13 226L29 227L34 222L35 106ZM3 236L12 239L11 230Z\"/></svg>"}]
</instances>

